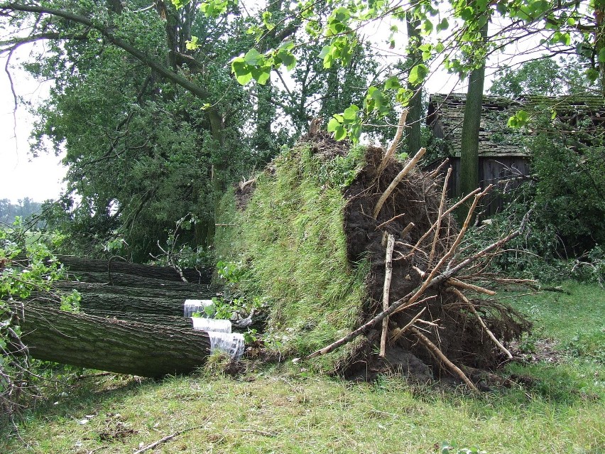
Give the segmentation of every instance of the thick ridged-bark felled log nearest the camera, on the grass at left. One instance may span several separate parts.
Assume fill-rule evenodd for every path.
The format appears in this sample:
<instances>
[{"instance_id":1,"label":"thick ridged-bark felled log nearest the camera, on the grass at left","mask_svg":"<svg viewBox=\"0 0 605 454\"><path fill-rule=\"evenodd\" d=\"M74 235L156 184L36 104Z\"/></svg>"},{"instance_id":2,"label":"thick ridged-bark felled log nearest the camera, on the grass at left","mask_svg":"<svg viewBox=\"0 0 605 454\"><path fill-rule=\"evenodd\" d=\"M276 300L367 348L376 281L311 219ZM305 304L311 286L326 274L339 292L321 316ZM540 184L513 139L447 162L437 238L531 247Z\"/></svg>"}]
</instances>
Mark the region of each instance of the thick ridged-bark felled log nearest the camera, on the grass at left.
<instances>
[{"instance_id":1,"label":"thick ridged-bark felled log nearest the camera, on the grass at left","mask_svg":"<svg viewBox=\"0 0 605 454\"><path fill-rule=\"evenodd\" d=\"M21 339L38 360L141 377L187 374L204 364L204 331L70 313L27 303L16 308Z\"/></svg>"}]
</instances>

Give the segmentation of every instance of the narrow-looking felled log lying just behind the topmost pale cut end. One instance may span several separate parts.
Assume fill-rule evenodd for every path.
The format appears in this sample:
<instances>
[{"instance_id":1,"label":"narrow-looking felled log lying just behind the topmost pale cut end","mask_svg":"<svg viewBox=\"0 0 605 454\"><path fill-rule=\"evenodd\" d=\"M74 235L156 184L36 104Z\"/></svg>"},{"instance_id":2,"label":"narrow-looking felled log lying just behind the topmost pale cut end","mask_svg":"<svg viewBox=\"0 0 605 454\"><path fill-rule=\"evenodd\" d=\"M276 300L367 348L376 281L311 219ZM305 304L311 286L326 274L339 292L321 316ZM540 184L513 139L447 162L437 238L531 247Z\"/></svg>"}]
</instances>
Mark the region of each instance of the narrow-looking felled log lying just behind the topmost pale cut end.
<instances>
[{"instance_id":1,"label":"narrow-looking felled log lying just behind the topmost pale cut end","mask_svg":"<svg viewBox=\"0 0 605 454\"><path fill-rule=\"evenodd\" d=\"M53 287L62 291L77 290L80 293L106 293L121 296L140 296L146 298L168 298L185 301L189 298L207 299L219 296L219 287L187 286L182 291L161 288L110 286L108 283L55 281Z\"/></svg>"}]
</instances>

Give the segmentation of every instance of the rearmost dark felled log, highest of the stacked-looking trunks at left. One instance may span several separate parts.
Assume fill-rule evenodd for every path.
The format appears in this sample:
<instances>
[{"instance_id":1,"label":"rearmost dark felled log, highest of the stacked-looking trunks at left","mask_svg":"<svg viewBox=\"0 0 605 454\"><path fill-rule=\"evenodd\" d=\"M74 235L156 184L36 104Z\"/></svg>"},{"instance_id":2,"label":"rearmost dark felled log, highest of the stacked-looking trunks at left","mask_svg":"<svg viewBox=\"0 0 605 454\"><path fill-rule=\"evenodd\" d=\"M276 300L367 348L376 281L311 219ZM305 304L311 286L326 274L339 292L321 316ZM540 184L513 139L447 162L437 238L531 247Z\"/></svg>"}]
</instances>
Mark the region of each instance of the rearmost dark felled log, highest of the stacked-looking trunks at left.
<instances>
[{"instance_id":1,"label":"rearmost dark felled log, highest of the stacked-looking trunks at left","mask_svg":"<svg viewBox=\"0 0 605 454\"><path fill-rule=\"evenodd\" d=\"M163 279L164 281L182 281L180 274L169 266L153 266L133 264L127 261L114 259L111 264L107 260L85 259L77 256L60 255L58 261L67 266L71 271L87 271L90 273L131 274L151 279ZM208 268L195 269L185 268L182 270L185 279L190 283L210 283L212 281L212 270Z\"/></svg>"}]
</instances>

